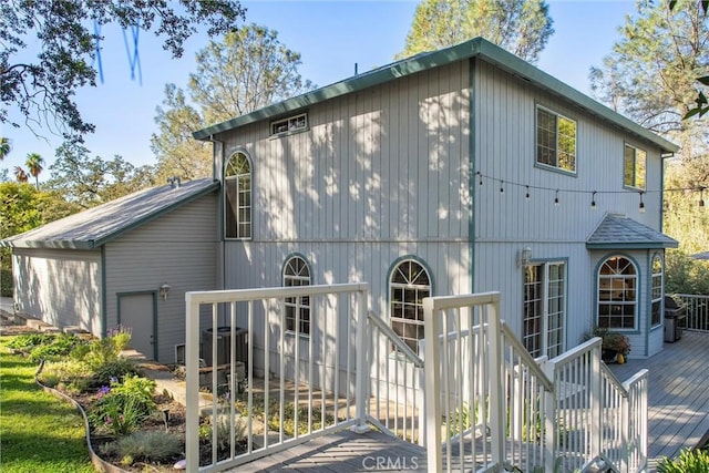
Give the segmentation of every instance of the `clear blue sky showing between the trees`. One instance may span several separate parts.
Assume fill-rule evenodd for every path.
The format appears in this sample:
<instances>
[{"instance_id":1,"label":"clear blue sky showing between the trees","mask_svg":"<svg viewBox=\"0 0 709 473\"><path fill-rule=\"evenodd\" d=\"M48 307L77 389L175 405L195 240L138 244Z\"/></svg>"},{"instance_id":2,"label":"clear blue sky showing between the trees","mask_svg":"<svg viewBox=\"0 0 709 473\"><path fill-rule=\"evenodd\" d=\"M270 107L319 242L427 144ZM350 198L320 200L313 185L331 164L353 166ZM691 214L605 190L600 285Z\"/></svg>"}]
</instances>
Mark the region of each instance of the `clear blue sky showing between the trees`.
<instances>
[{"instance_id":1,"label":"clear blue sky showing between the trees","mask_svg":"<svg viewBox=\"0 0 709 473\"><path fill-rule=\"evenodd\" d=\"M554 20L554 34L538 63L547 72L573 88L589 93L588 71L599 66L613 44L620 38L618 27L635 12L633 1L547 0ZM246 22L278 31L279 41L301 54L299 72L306 80L325 86L393 61L403 50L418 1L410 0L251 0L243 1ZM156 133L155 109L164 99L165 84L185 89L195 69L195 53L209 38L199 34L185 43L178 60L163 51L162 42L152 33L138 37L140 74L131 68L131 32L129 48L117 25L105 25L101 33L103 82L78 92L76 102L84 120L96 126L86 137L91 155L110 160L114 155L136 166L155 164L150 147ZM30 48L37 48L31 45ZM132 76L133 75L133 76ZM12 113L11 117L22 122ZM0 136L10 138L12 151L0 162L0 169L24 167L29 153L45 161L40 181L49 178L54 150L61 137L39 130L37 137L27 126L0 125Z\"/></svg>"}]
</instances>

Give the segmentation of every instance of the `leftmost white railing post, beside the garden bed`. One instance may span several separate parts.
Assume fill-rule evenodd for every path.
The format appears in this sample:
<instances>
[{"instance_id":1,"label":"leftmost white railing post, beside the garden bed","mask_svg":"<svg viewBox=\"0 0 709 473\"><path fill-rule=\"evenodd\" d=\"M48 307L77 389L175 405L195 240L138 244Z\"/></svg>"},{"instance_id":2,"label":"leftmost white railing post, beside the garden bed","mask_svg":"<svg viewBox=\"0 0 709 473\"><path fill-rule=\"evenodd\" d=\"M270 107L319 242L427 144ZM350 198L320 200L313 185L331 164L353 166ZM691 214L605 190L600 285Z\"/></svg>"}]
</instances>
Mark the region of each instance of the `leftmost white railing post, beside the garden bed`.
<instances>
[{"instance_id":1,"label":"leftmost white railing post, beside the garden bed","mask_svg":"<svg viewBox=\"0 0 709 473\"><path fill-rule=\"evenodd\" d=\"M193 302L192 295L185 294L187 321L185 333L186 373L186 432L185 453L187 471L199 470L199 304Z\"/></svg>"}]
</instances>

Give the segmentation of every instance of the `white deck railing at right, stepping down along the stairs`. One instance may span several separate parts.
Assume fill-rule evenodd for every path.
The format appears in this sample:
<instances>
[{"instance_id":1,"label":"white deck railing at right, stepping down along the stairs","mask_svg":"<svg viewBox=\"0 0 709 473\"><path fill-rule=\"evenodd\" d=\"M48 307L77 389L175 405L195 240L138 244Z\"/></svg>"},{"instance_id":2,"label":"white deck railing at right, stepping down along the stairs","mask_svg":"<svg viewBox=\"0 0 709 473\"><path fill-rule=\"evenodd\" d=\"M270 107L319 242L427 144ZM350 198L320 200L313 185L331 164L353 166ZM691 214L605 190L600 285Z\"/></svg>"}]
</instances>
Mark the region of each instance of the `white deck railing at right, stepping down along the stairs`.
<instances>
[{"instance_id":1,"label":"white deck railing at right, stepping down along the stairs","mask_svg":"<svg viewBox=\"0 0 709 473\"><path fill-rule=\"evenodd\" d=\"M599 338L533 360L500 320L497 292L423 305L431 470L575 471L598 455L645 469L647 372L620 384L600 362ZM442 349L430 343L439 333L449 335Z\"/></svg>"}]
</instances>

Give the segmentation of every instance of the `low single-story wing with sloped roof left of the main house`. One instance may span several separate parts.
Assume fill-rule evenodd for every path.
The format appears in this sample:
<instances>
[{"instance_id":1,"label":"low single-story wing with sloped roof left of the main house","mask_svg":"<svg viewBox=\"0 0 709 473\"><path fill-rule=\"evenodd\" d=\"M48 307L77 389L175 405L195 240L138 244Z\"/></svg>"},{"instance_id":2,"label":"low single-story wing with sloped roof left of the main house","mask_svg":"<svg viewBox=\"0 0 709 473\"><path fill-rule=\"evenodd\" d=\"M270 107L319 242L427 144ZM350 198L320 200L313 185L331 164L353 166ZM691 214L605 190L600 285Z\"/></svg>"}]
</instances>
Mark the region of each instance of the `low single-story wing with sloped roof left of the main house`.
<instances>
[{"instance_id":1,"label":"low single-story wing with sloped roof left of the main house","mask_svg":"<svg viewBox=\"0 0 709 473\"><path fill-rule=\"evenodd\" d=\"M173 362L185 291L216 287L218 189L174 179L4 239L16 306L97 337L130 327L135 349Z\"/></svg>"}]
</instances>

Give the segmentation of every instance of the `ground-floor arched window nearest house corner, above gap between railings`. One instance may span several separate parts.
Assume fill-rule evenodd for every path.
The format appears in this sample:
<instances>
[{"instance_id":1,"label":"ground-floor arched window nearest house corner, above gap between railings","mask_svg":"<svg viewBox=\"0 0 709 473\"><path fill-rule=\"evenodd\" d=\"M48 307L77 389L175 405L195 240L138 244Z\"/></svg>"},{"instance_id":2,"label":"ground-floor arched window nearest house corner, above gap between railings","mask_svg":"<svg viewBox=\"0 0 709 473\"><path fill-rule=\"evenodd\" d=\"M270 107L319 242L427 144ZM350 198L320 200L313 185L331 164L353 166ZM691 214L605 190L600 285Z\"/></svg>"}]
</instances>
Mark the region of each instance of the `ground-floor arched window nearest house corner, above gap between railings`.
<instances>
[{"instance_id":1,"label":"ground-floor arched window nearest house corner, above gap between railings","mask_svg":"<svg viewBox=\"0 0 709 473\"><path fill-rule=\"evenodd\" d=\"M423 298L431 296L431 278L412 259L397 265L389 280L391 328L414 351L423 339Z\"/></svg>"}]
</instances>

